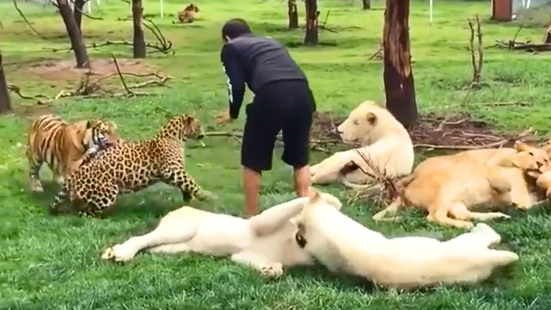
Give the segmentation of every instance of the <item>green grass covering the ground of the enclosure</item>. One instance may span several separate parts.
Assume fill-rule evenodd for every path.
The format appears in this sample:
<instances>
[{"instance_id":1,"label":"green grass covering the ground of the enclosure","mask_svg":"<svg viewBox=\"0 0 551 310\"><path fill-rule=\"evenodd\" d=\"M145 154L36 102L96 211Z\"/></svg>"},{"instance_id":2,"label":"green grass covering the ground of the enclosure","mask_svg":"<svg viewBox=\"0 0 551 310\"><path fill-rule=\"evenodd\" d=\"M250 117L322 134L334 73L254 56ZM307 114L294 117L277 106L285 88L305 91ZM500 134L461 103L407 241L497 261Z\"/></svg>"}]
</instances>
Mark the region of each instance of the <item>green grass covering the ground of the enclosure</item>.
<instances>
[{"instance_id":1,"label":"green grass covering the ground of the enclosure","mask_svg":"<svg viewBox=\"0 0 551 310\"><path fill-rule=\"evenodd\" d=\"M346 115L361 100L384 99L382 64L368 61L379 47L384 2L362 11L359 1L320 2L321 22L327 10L327 26L338 33L321 31L322 42L336 46L293 47L291 54L309 77L318 109ZM165 12L176 13L185 3L165 1ZM204 126L213 125L213 114L226 108L225 78L219 63L220 26L232 17L250 20L254 31L273 36L289 46L300 42L302 30L285 30L285 2L221 1L198 3L200 19L191 25L172 24L174 17L156 23L174 42L176 55L154 54L147 63L174 76L172 89L137 99L67 99L37 107L13 98L14 114L0 116L0 308L5 309L549 309L551 308L551 220L545 207L526 213L507 211L510 221L491 223L503 236L504 247L520 255L512 276L495 277L473 287L450 286L413 292L374 290L357 279L338 277L323 268L289 270L282 279L268 281L255 272L224 259L201 255L159 256L142 254L125 265L104 263L102 250L134 234L147 232L169 210L182 205L176 191L148 190L120 197L114 213L104 219L46 214L56 186L46 182L47 193L28 190L24 146L26 127L37 114L51 111L68 120L105 117L114 120L123 138L153 136L168 113L195 113ZM10 83L25 93L55 94L71 89L67 81L42 79L20 68L45 59L72 59L65 52L42 47L68 46L60 17L51 8L20 2L35 27L46 35L41 40L21 22L12 2L0 0L0 48ZM299 7L300 22L304 9ZM158 4L148 1L145 12L158 14ZM128 6L102 1L94 15L84 19L87 41L131 38L131 22L119 22ZM471 113L504 130L522 131L533 126L549 131L551 115L551 56L503 50L485 50L484 82L467 96L471 65L466 19L480 14L485 46L495 39L511 39L516 24L489 20L488 1L440 1L435 3L434 23L428 24L428 2L413 1L410 13L412 60L417 102L421 113ZM543 28L522 30L520 39L539 40ZM148 39L150 36L148 35ZM89 50L93 59L130 57L126 47ZM116 80L115 80L116 81ZM73 85L74 85L73 81ZM247 97L249 99L250 97ZM531 106L488 107L482 103L526 101ZM246 101L247 102L247 101ZM229 128L240 128L243 117ZM212 128L211 128L212 129ZM239 145L226 138L209 138L206 148L187 145L187 167L204 188L219 196L213 202L192 205L215 212L241 214ZM262 205L293 197L289 170L274 156L274 169L263 179ZM312 154L312 162L324 155ZM49 177L47 169L43 178ZM346 198L340 186L324 188ZM343 212L364 225L389 234L456 236L458 229L436 226L418 211L404 211L404 220L376 224L369 202L347 204Z\"/></svg>"}]
</instances>

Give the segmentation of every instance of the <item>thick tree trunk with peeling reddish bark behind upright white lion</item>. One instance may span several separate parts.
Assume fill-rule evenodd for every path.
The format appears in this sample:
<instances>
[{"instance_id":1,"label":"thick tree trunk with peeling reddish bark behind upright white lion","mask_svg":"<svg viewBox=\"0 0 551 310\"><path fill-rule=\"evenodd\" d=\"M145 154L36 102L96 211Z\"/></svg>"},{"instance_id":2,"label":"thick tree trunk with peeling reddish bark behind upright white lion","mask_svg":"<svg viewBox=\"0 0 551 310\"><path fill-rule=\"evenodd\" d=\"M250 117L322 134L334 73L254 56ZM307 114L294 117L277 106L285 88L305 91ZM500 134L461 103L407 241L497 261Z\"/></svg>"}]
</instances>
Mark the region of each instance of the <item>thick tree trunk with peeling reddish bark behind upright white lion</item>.
<instances>
[{"instance_id":1,"label":"thick tree trunk with peeling reddish bark behind upright white lion","mask_svg":"<svg viewBox=\"0 0 551 310\"><path fill-rule=\"evenodd\" d=\"M409 0L387 0L383 50L386 108L405 127L417 121L409 52Z\"/></svg>"}]
</instances>

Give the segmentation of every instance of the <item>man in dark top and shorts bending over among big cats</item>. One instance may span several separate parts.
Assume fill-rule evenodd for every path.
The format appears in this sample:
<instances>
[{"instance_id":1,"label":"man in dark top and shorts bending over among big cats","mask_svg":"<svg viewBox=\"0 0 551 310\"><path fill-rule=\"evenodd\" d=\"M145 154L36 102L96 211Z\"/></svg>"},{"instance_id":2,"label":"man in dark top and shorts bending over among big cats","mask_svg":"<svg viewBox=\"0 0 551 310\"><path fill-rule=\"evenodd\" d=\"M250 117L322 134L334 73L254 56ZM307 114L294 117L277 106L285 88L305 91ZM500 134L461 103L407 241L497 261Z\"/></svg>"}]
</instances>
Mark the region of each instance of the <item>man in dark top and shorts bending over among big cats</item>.
<instances>
[{"instance_id":1,"label":"man in dark top and shorts bending over among big cats","mask_svg":"<svg viewBox=\"0 0 551 310\"><path fill-rule=\"evenodd\" d=\"M246 213L253 216L257 213L261 173L272 169L279 131L283 132L282 160L294 168L296 194L310 194L309 136L316 103L306 76L278 42L251 34L242 19L226 22L222 38L225 44L220 58L228 76L230 108L218 116L217 123L237 119L245 83L255 93L245 109L241 146Z\"/></svg>"}]
</instances>

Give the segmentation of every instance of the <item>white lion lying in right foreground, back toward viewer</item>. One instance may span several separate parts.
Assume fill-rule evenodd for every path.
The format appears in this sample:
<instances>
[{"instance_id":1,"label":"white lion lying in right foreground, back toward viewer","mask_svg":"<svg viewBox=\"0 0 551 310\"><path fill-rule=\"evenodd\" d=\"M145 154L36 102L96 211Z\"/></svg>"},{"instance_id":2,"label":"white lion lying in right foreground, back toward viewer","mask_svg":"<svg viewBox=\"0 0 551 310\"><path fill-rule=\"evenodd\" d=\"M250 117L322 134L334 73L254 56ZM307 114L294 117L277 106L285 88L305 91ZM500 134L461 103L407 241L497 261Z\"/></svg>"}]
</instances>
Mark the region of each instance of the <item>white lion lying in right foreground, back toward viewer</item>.
<instances>
[{"instance_id":1,"label":"white lion lying in right foreground, back toward viewer","mask_svg":"<svg viewBox=\"0 0 551 310\"><path fill-rule=\"evenodd\" d=\"M487 279L496 267L518 260L515 253L488 248L501 237L484 223L446 242L428 237L386 238L319 197L304 207L297 222L296 242L329 270L385 287L477 282Z\"/></svg>"}]
</instances>

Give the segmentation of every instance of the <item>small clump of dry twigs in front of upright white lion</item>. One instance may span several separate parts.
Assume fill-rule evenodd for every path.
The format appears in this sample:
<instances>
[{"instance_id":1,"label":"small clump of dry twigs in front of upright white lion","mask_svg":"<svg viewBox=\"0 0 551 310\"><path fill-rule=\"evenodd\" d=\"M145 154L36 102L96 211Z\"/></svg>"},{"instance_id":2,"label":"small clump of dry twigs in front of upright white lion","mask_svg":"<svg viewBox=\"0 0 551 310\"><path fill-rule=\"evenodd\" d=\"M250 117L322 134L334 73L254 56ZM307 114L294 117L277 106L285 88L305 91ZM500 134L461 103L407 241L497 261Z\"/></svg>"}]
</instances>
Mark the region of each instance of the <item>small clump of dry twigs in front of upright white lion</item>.
<instances>
[{"instance_id":1,"label":"small clump of dry twigs in front of upright white lion","mask_svg":"<svg viewBox=\"0 0 551 310\"><path fill-rule=\"evenodd\" d=\"M399 180L395 176L390 176L386 173L386 170L381 170L369 156L366 156L363 152L355 149L359 154L361 160L365 163L367 170L363 169L360 164L351 161L341 170L341 175L345 175L355 170L360 170L365 175L368 175L374 183L372 186L364 190L355 191L350 196L349 202L358 200L371 200L377 205L387 206L393 200L395 200L402 193L402 186Z\"/></svg>"}]
</instances>

